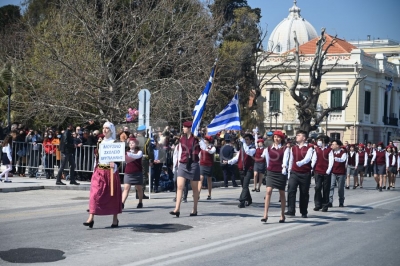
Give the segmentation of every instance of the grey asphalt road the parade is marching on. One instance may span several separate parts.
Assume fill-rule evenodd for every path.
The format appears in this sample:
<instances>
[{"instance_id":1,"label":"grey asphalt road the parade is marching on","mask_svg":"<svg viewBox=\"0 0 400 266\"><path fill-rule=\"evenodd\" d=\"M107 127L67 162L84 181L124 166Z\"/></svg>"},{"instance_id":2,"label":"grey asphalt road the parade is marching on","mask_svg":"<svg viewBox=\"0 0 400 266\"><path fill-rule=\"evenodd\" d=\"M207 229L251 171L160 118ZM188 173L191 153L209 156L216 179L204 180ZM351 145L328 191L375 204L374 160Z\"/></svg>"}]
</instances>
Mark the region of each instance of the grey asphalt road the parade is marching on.
<instances>
[{"instance_id":1,"label":"grey asphalt road the parade is marching on","mask_svg":"<svg viewBox=\"0 0 400 266\"><path fill-rule=\"evenodd\" d=\"M189 200L180 218L168 214L174 193L155 194L143 209L131 195L116 229L111 216L82 225L88 191L0 193L0 265L399 265L400 187L378 192L367 178L363 189L345 190L344 208L335 191L322 213L312 210L312 186L309 218L297 209L284 224L277 191L263 224L265 188L245 209L240 190L216 188L211 201L203 191L199 216L189 217Z\"/></svg>"}]
</instances>

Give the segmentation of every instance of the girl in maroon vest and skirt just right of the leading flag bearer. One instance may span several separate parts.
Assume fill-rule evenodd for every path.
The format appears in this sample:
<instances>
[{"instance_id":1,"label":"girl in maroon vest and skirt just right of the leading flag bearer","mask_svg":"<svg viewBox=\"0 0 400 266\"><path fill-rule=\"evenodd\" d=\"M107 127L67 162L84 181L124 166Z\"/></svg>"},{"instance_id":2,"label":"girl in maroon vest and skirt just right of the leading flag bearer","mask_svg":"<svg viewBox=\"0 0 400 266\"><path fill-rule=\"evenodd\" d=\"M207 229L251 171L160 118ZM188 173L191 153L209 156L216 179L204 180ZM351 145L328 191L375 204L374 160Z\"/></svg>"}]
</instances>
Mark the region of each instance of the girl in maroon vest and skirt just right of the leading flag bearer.
<instances>
[{"instance_id":1,"label":"girl in maroon vest and skirt just right of the leading flag bearer","mask_svg":"<svg viewBox=\"0 0 400 266\"><path fill-rule=\"evenodd\" d=\"M204 143L205 146L201 146L200 151L200 182L199 182L199 198L201 192L201 186L203 184L204 177L207 178L207 188L208 188L208 196L207 200L211 200L211 190L212 190L212 168L214 164L214 154L215 147L212 145L213 137L205 136Z\"/></svg>"}]
</instances>

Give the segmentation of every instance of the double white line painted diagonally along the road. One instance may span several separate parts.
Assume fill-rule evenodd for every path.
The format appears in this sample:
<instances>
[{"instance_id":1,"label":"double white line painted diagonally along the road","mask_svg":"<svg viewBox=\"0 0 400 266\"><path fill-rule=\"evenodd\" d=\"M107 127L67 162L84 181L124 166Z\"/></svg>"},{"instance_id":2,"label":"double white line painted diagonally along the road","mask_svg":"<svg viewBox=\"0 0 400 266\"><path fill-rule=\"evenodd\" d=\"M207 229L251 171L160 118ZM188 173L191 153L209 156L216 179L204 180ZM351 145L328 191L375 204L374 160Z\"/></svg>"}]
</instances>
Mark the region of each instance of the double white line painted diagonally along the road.
<instances>
[{"instance_id":1,"label":"double white line painted diagonally along the road","mask_svg":"<svg viewBox=\"0 0 400 266\"><path fill-rule=\"evenodd\" d=\"M396 201L400 201L400 196L398 197L394 197L394 198L390 198L390 199L385 199L385 200L380 200L380 201L376 201L370 204L365 204L365 205L361 205L360 207L357 208L352 208L349 210L346 210L344 212L355 212L356 210L362 210L362 207L378 207L387 203L393 203ZM336 217L338 215L343 215L343 213L337 214L337 213L332 213L327 215L328 217ZM321 218L316 218L316 219L308 219L307 221L311 221L311 222L325 222L326 219L321 219ZM294 222L296 223L296 222ZM184 250L180 250L177 252L173 252L173 253L168 253L166 255L161 255L158 257L152 257L149 259L145 259L145 260L141 260L141 261L137 261L137 262L133 262L133 263L128 263L125 264L127 266L138 266L138 265L144 265L144 264L151 264L153 266L158 266L158 265L170 265L170 264L175 264L178 262L182 262L182 261L186 261L188 259L193 259L199 256L205 256L205 255L209 255L212 253L216 253L219 251L223 251L226 249L230 249L239 245L244 245L244 244L248 244L254 241L258 241L258 240L264 240L266 238L270 238L273 237L275 235L278 234L282 234L282 233L286 233L286 232L290 232L293 230L297 230L306 226L310 226L310 222L307 222L305 224L303 223L299 223L298 225L293 226L294 223L290 223L290 224L284 224L282 226L279 226L279 229L277 229L276 227L274 228L269 228L269 229L265 229L265 230L259 230L257 232L253 232L253 233L249 233L249 234L245 234L245 235L241 235L241 236L236 236L236 237L232 237L229 239L225 239L225 240L220 240L220 241L215 241L209 244L205 244L205 245L201 245L201 246L197 246L197 247L193 247L193 248L189 248L189 249L184 249Z\"/></svg>"}]
</instances>

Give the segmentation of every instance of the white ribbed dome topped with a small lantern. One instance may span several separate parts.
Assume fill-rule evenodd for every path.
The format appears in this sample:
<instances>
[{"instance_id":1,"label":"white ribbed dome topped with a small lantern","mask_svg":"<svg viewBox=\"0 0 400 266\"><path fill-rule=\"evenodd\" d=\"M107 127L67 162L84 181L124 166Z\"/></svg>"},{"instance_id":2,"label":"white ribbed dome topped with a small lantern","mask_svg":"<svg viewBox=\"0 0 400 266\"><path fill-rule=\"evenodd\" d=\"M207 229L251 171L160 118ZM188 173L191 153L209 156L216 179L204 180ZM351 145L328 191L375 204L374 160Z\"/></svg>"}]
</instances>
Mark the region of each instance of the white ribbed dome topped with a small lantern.
<instances>
[{"instance_id":1,"label":"white ribbed dome topped with a small lantern","mask_svg":"<svg viewBox=\"0 0 400 266\"><path fill-rule=\"evenodd\" d=\"M293 2L293 6L289 9L289 16L272 31L268 40L268 51L284 53L293 49L295 47L294 31L300 45L318 37L314 27L301 17L301 9L296 5L297 1Z\"/></svg>"}]
</instances>

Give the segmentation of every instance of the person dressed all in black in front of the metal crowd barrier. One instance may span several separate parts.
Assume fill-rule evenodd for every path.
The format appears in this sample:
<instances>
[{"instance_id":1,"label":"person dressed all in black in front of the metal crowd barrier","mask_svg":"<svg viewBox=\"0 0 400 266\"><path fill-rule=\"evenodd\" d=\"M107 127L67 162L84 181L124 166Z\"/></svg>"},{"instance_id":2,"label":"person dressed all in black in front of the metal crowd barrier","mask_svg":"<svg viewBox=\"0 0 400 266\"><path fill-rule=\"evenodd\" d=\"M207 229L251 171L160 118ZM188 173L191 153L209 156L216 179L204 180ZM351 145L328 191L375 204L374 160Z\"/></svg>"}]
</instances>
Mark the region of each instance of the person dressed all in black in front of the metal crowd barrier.
<instances>
[{"instance_id":1,"label":"person dressed all in black in front of the metal crowd barrier","mask_svg":"<svg viewBox=\"0 0 400 266\"><path fill-rule=\"evenodd\" d=\"M74 151L75 151L75 144L74 138L72 137L71 132L74 130L72 125L69 125L68 128L64 131L64 134L61 137L60 141L60 151L61 151L61 165L60 169L58 170L56 185L65 185L65 183L61 182L61 175L64 171L65 164L68 161L69 163L69 173L70 173L70 185L79 185L78 182L75 180L75 158L74 158Z\"/></svg>"}]
</instances>

